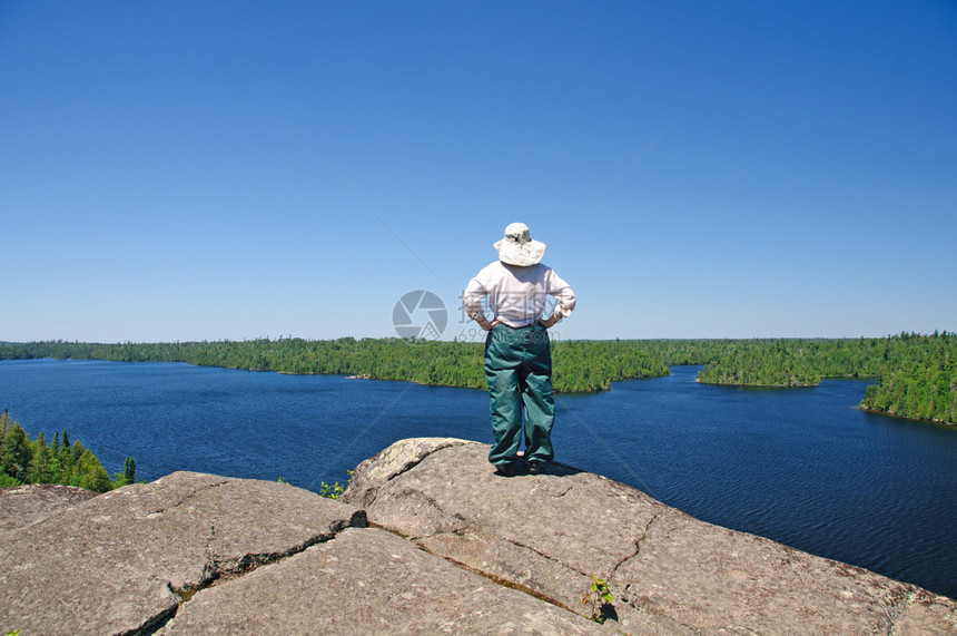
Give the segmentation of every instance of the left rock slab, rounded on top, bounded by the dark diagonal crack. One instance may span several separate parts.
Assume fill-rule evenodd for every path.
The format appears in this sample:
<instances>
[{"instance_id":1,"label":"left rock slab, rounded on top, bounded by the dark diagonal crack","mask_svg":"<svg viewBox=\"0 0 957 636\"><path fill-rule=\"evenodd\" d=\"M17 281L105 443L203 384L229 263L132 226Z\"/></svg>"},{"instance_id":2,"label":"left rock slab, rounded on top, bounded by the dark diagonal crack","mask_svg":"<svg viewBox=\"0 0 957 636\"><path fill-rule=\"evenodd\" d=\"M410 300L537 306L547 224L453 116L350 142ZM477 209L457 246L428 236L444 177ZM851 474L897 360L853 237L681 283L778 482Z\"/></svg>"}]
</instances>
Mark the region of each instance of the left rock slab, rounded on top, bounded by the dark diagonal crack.
<instances>
[{"instance_id":1,"label":"left rock slab, rounded on top, bounded by the dark diagonal crack","mask_svg":"<svg viewBox=\"0 0 957 636\"><path fill-rule=\"evenodd\" d=\"M328 540L365 515L292 486L176 472L0 536L0 634L130 634L190 590Z\"/></svg>"}]
</instances>

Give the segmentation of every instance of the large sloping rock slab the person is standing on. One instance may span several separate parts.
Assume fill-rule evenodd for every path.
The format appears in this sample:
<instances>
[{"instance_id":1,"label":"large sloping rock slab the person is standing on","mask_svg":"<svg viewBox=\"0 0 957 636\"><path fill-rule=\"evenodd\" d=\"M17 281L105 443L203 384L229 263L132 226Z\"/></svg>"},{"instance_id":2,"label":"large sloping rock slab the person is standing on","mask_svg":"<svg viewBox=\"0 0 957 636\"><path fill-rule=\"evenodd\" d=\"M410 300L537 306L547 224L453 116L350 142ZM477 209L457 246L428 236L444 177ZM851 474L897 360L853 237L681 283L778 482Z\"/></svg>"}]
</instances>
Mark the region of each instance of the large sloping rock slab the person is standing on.
<instances>
[{"instance_id":1,"label":"large sloping rock slab the person is standing on","mask_svg":"<svg viewBox=\"0 0 957 636\"><path fill-rule=\"evenodd\" d=\"M601 476L551 464L504 479L485 444L423 448L404 440L387 461L363 462L344 499L371 524L562 607L581 610L592 576L606 579L621 632L957 633L951 599L706 524Z\"/></svg>"}]
</instances>

